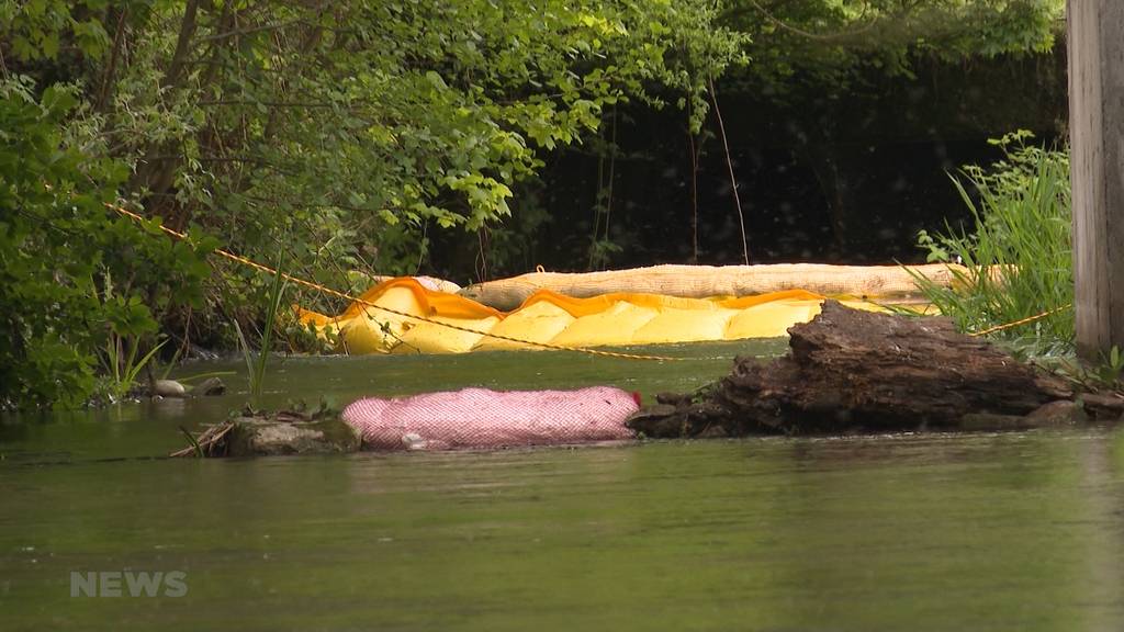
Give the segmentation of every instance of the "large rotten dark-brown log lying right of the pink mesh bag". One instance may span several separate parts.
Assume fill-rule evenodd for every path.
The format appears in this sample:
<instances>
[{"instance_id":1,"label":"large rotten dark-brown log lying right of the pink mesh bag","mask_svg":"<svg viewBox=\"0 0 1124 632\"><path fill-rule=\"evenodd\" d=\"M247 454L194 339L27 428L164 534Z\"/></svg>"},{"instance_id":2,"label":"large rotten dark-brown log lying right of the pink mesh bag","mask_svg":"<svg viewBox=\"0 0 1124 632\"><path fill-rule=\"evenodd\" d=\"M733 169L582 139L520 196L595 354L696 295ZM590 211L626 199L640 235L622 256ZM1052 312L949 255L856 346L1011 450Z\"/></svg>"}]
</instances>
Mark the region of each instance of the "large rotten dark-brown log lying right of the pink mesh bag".
<instances>
[{"instance_id":1,"label":"large rotten dark-brown log lying right of the pink mesh bag","mask_svg":"<svg viewBox=\"0 0 1124 632\"><path fill-rule=\"evenodd\" d=\"M705 392L661 395L629 426L647 436L987 430L1084 414L1066 403L1069 382L958 333L949 318L826 301L789 333L788 355L768 364L738 358Z\"/></svg>"}]
</instances>

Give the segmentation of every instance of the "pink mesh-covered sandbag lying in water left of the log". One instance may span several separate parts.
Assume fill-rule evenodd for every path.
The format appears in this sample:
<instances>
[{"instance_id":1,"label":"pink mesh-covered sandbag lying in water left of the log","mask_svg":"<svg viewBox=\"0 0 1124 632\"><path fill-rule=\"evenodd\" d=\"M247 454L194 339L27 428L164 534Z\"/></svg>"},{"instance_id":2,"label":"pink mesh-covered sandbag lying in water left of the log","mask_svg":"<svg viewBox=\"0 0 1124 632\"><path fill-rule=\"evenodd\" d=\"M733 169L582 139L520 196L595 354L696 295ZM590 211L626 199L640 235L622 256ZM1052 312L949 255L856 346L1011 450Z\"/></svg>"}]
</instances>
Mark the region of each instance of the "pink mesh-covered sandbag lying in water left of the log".
<instances>
[{"instance_id":1,"label":"pink mesh-covered sandbag lying in water left of the log","mask_svg":"<svg viewBox=\"0 0 1124 632\"><path fill-rule=\"evenodd\" d=\"M374 450L452 450L631 439L638 397L605 386L579 390L465 388L400 399L369 397L343 418Z\"/></svg>"}]
</instances>

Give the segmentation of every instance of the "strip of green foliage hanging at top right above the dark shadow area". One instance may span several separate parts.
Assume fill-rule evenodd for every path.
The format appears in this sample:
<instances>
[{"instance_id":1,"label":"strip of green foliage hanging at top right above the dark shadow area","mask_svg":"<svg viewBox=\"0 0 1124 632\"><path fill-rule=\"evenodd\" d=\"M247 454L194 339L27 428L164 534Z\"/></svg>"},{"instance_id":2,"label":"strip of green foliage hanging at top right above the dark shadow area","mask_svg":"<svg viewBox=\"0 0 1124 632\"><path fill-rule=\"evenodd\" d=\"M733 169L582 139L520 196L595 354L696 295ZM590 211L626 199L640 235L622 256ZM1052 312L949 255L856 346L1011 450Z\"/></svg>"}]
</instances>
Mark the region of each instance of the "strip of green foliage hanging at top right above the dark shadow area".
<instances>
[{"instance_id":1,"label":"strip of green foliage hanging at top right above the dark shadow area","mask_svg":"<svg viewBox=\"0 0 1124 632\"><path fill-rule=\"evenodd\" d=\"M751 40L742 79L782 98L801 84L845 88L864 69L908 75L921 58L1045 52L1064 9L1064 0L731 0L719 21Z\"/></svg>"}]
</instances>

